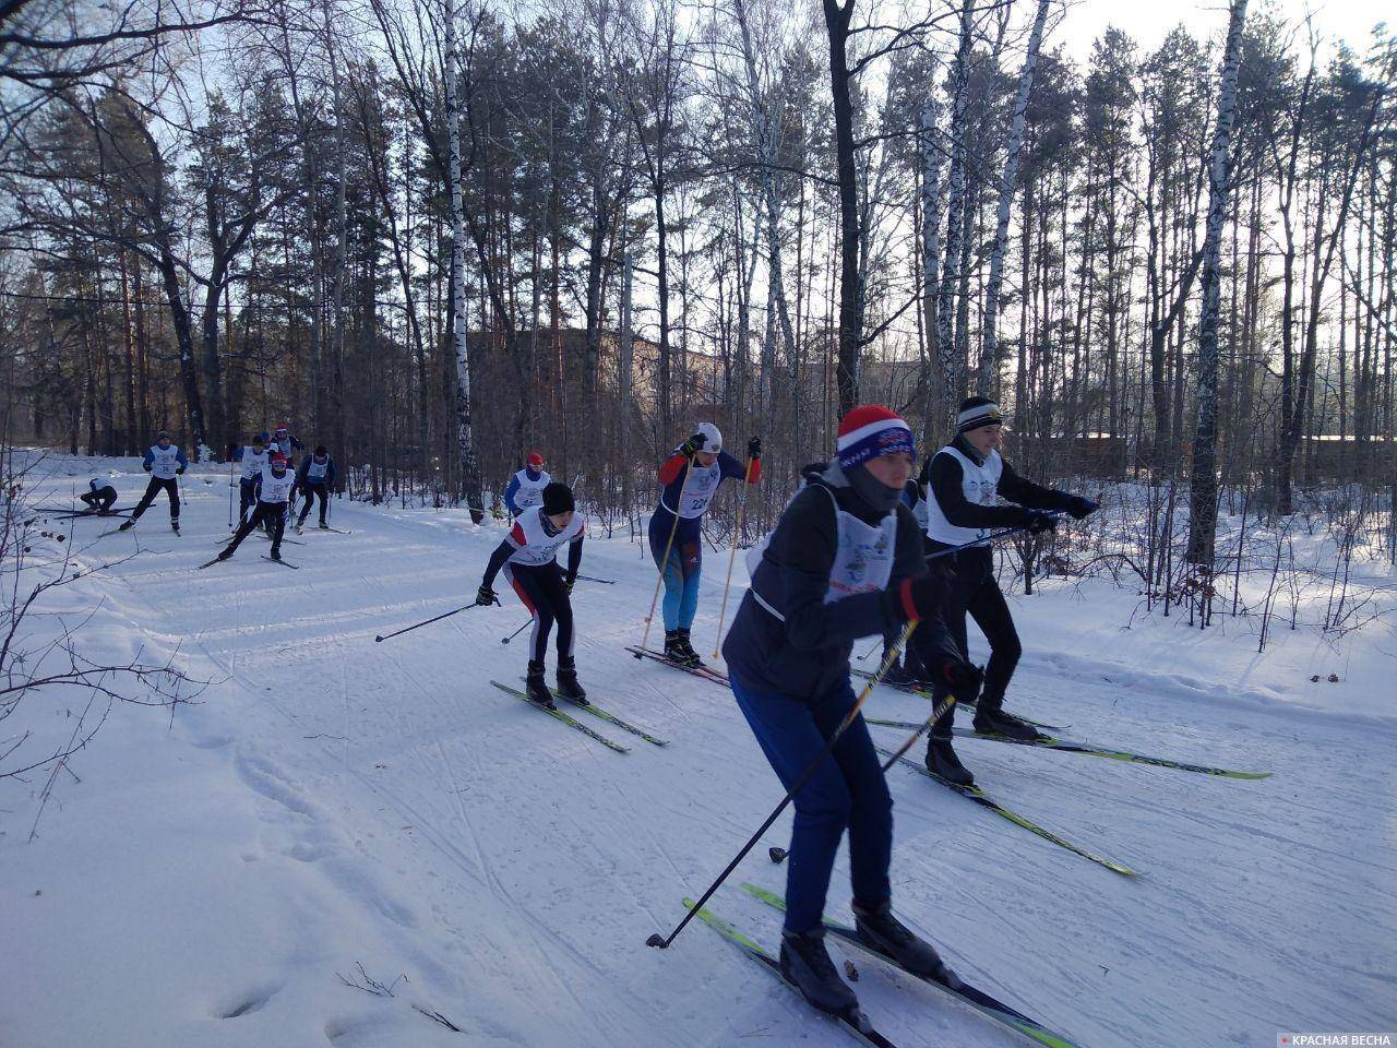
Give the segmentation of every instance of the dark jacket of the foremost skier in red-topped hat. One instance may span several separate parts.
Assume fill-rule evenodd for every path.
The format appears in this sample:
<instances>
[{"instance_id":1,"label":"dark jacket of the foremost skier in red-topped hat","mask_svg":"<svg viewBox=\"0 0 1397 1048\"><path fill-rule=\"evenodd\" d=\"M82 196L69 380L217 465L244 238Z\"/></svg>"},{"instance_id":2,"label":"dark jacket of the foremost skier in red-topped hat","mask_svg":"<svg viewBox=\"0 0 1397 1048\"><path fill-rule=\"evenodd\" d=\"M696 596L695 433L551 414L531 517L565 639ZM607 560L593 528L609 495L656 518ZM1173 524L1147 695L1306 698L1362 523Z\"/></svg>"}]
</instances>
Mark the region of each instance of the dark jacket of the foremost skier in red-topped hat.
<instances>
[{"instance_id":1,"label":"dark jacket of the foremost skier in red-topped hat","mask_svg":"<svg viewBox=\"0 0 1397 1048\"><path fill-rule=\"evenodd\" d=\"M849 653L858 637L897 630L907 620L897 595L905 578L926 574L922 532L904 504L897 506L897 545L887 590L826 604L830 572L838 545L838 524L830 497L840 509L868 524L883 514L855 493L838 464L823 472L802 471L806 488L787 506L742 598L732 630L722 646L728 674L742 686L814 701L849 676ZM757 602L753 592L775 608L785 622ZM923 644L956 657L940 616L922 620Z\"/></svg>"}]
</instances>

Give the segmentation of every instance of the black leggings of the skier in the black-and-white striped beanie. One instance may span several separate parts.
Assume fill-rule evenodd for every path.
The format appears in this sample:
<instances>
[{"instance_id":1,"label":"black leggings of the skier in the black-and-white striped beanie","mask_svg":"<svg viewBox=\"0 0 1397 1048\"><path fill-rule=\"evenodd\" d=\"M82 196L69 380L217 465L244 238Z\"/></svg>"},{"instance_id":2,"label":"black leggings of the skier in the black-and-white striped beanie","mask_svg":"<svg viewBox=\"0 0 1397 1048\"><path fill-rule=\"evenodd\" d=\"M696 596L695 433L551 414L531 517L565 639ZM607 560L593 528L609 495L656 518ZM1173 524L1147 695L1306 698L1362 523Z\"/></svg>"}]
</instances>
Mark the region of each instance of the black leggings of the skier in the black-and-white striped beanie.
<instances>
[{"instance_id":1,"label":"black leggings of the skier in the black-and-white striped beanie","mask_svg":"<svg viewBox=\"0 0 1397 1048\"><path fill-rule=\"evenodd\" d=\"M943 619L946 629L960 648L961 657L970 661L970 647L965 639L965 616L970 615L979 626L985 640L989 641L989 662L985 665L985 685L981 690L979 704L988 708L999 708L1004 700L1004 690L1009 679L1014 675L1018 657L1024 654L1023 644L1018 643L1018 630L1014 629L1014 618L1009 613L1004 594L995 578L993 553L988 549L967 549L950 560L949 594ZM914 632L912 637L918 637ZM930 662L930 653L926 654ZM933 689L936 699L944 699L947 689L940 681ZM951 724L956 720L956 707L951 707L932 728L936 738L949 738Z\"/></svg>"}]
</instances>

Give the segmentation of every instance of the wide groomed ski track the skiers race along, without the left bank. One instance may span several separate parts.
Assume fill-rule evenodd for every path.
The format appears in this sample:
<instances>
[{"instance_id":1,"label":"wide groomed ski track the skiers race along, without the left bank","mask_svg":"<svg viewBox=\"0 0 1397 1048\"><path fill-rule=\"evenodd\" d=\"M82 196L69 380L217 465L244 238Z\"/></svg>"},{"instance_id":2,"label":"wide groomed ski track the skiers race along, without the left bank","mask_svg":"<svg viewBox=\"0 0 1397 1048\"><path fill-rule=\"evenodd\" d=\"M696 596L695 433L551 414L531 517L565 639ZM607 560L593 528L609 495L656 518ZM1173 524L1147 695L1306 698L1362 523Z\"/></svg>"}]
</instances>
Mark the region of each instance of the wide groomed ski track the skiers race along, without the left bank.
<instances>
[{"instance_id":1,"label":"wide groomed ski track the skiers race along, without the left bank","mask_svg":"<svg viewBox=\"0 0 1397 1048\"><path fill-rule=\"evenodd\" d=\"M513 682L527 658L527 637L499 643L525 615L510 594L503 608L374 644L376 633L469 602L500 525L341 503L353 535L298 549L296 576L244 549L193 573L226 534L225 503L191 490L182 538L142 542L99 584L138 605L163 644L229 675L208 701L239 728L236 774L279 812L278 834L296 829L298 858L360 897L366 919L397 928L422 967L415 984L447 1014L468 1016L468 1033L569 1045L847 1040L697 924L665 953L644 946L781 796L729 692L624 653L644 625L648 558L620 539L590 541L584 570L617 584L574 595L594 700L671 741L620 755L489 685ZM88 565L129 552L115 541L78 551ZM700 647L717 620L712 563ZM1027 630L1024 641L1031 651ZM1242 783L965 741L960 753L990 796L1141 876L1126 880L894 769L900 914L963 975L1084 1045L1253 1048L1281 1028L1397 1027L1397 732L1296 718L1257 692L1224 690L1213 704L1185 676L1025 658L1010 704L1070 724L1066 739L1274 776ZM888 689L866 708L928 711ZM907 735L872 731L890 743ZM787 844L789 826L787 812L711 903L773 950L780 918L736 885L784 890L766 851ZM841 852L831 915L847 900ZM900 1045L1023 1044L848 956L863 973L865 1009ZM326 1017L331 1042L370 1033Z\"/></svg>"}]
</instances>

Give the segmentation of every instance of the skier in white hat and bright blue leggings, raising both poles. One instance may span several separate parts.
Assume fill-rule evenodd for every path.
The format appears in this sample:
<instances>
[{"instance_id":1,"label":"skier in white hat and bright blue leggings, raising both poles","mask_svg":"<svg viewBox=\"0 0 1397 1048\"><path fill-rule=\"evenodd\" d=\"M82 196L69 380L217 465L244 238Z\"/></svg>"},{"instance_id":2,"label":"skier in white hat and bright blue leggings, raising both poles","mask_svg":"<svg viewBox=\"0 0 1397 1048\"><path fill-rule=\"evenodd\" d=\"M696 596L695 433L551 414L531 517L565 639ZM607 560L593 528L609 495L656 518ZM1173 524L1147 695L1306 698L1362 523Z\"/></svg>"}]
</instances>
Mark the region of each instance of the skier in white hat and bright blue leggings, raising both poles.
<instances>
[{"instance_id":1,"label":"skier in white hat and bright blue leggings, raising both poles","mask_svg":"<svg viewBox=\"0 0 1397 1048\"><path fill-rule=\"evenodd\" d=\"M757 483L761 481L760 437L747 440L747 457L753 460L750 483ZM724 478L740 481L745 475L743 464L722 450L722 433L712 422L701 422L659 467L664 488L650 518L650 555L665 580L665 657L680 665L703 665L689 643L689 630L698 609L704 510Z\"/></svg>"}]
</instances>

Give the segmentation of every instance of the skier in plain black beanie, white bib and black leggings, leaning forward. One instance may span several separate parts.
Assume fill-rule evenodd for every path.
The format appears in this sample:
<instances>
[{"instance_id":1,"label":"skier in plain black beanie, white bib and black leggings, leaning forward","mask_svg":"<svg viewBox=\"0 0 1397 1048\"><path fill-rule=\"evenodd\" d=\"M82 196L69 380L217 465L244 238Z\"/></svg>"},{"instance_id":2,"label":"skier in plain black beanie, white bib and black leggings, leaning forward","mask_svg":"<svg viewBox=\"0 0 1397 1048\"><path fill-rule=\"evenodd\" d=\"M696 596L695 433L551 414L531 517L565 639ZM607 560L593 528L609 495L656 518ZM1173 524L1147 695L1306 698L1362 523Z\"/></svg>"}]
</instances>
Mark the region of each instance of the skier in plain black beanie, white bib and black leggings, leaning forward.
<instances>
[{"instance_id":1,"label":"skier in plain black beanie, white bib and black leggings, leaning forward","mask_svg":"<svg viewBox=\"0 0 1397 1048\"><path fill-rule=\"evenodd\" d=\"M553 481L543 489L542 504L525 509L490 555L475 597L476 604L497 604L499 598L490 587L503 569L504 578L534 616L524 690L529 699L549 710L557 707L543 681L543 664L548 657L548 634L555 622L557 692L578 706L587 706L587 692L577 682L577 664L573 660L573 604L569 599L577 581L577 569L583 565L583 518L573 502L573 489ZM553 559L564 545L569 548L566 573Z\"/></svg>"}]
</instances>

